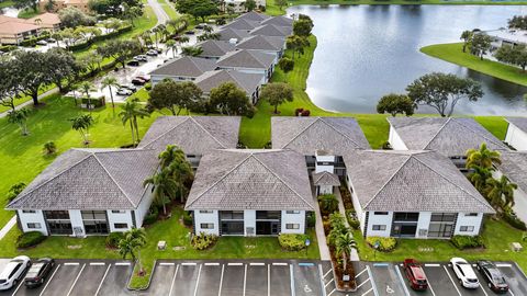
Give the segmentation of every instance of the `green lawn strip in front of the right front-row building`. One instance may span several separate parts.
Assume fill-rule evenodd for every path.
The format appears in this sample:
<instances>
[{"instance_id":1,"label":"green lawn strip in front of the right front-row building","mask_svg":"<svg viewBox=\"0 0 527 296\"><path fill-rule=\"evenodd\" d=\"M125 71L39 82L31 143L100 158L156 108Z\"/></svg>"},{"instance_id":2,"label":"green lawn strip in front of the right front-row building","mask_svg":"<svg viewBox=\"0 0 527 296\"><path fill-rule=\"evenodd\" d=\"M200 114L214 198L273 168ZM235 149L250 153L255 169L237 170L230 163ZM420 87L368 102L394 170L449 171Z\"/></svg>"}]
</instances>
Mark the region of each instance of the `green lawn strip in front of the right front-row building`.
<instances>
[{"instance_id":1,"label":"green lawn strip in front of the right front-row building","mask_svg":"<svg viewBox=\"0 0 527 296\"><path fill-rule=\"evenodd\" d=\"M512 242L522 242L522 231L512 228L504 221L487 219L482 234L485 249L460 251L449 240L437 239L401 239L397 248L389 253L374 252L365 242L359 230L355 232L358 240L359 255L367 261L403 261L414 257L421 261L448 261L452 257L467 260L487 259L493 261L515 261L527 271L527 251L512 252Z\"/></svg>"}]
</instances>

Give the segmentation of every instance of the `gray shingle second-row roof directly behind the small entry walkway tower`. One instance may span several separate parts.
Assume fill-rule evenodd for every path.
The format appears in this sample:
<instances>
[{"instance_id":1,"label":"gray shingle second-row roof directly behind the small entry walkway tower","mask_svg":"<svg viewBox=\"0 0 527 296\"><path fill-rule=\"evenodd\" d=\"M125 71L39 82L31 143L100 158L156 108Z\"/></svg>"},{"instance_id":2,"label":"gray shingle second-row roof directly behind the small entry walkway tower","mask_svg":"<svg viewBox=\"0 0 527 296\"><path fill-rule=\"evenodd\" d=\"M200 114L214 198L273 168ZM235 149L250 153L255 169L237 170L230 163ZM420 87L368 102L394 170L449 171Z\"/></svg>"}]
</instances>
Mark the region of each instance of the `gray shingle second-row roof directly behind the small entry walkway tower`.
<instances>
[{"instance_id":1,"label":"gray shingle second-row roof directly behind the small entry walkway tower","mask_svg":"<svg viewBox=\"0 0 527 296\"><path fill-rule=\"evenodd\" d=\"M272 148L292 149L305 156L332 150L343 156L349 149L369 149L370 145L351 117L271 117Z\"/></svg>"}]
</instances>

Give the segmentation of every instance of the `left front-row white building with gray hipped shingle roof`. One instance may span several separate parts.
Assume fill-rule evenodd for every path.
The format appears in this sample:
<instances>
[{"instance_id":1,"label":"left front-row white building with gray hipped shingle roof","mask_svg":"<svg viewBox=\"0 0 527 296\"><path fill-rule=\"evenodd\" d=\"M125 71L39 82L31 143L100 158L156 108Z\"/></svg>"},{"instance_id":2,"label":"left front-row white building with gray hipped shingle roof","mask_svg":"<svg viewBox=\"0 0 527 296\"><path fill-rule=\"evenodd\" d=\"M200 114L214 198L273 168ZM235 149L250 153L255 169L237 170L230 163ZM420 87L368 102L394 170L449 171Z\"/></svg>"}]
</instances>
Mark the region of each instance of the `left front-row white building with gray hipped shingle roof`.
<instances>
[{"instance_id":1,"label":"left front-row white building with gray hipped shingle roof","mask_svg":"<svg viewBox=\"0 0 527 296\"><path fill-rule=\"evenodd\" d=\"M148 149L70 149L8 206L22 231L83 237L141 227L152 204L143 181L158 169Z\"/></svg>"}]
</instances>

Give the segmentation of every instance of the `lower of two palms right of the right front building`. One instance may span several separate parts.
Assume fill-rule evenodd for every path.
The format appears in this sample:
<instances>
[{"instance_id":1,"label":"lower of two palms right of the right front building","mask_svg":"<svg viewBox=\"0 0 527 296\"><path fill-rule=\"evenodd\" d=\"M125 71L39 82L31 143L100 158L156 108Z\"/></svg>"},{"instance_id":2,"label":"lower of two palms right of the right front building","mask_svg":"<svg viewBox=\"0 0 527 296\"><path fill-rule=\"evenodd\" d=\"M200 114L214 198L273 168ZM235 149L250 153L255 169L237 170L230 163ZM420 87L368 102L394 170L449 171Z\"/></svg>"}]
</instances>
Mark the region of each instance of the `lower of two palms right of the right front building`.
<instances>
[{"instance_id":1,"label":"lower of two palms right of the right front building","mask_svg":"<svg viewBox=\"0 0 527 296\"><path fill-rule=\"evenodd\" d=\"M508 181L505 175L502 175L498 180L490 178L486 184L489 186L489 202L496 210L506 210L514 206L514 191L518 189L518 185Z\"/></svg>"}]
</instances>

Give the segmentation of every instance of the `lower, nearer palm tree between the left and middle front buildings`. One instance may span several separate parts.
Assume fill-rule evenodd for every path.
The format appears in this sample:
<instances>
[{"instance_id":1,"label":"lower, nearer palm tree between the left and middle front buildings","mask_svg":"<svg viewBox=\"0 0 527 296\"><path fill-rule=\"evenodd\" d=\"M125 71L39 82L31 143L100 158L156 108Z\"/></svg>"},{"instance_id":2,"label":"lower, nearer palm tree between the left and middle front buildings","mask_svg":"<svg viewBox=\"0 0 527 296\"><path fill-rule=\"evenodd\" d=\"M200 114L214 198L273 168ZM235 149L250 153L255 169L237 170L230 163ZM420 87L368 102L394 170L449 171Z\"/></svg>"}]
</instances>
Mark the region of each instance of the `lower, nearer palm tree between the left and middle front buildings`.
<instances>
[{"instance_id":1,"label":"lower, nearer palm tree between the left and middle front buildings","mask_svg":"<svg viewBox=\"0 0 527 296\"><path fill-rule=\"evenodd\" d=\"M153 196L157 205L162 206L162 214L167 215L167 204L178 192L178 183L168 168L161 169L143 182L143 186L153 185Z\"/></svg>"}]
</instances>

